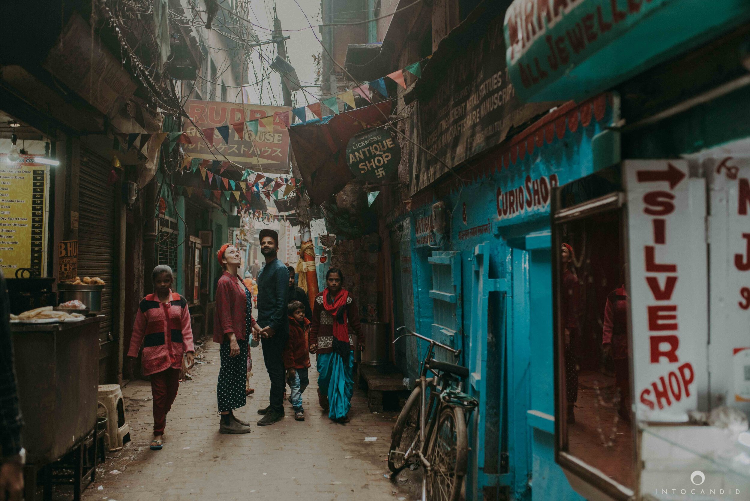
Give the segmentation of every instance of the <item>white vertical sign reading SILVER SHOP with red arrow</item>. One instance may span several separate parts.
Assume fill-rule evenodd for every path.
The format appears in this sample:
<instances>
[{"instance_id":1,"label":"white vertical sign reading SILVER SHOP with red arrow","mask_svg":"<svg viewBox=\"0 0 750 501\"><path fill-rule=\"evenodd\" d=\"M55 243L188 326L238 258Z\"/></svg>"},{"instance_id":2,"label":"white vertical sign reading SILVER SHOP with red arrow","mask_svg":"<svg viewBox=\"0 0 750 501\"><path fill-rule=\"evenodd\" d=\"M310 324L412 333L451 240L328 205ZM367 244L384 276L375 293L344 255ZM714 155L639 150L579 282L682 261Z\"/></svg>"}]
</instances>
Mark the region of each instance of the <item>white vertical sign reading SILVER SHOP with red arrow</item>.
<instances>
[{"instance_id":1,"label":"white vertical sign reading SILVER SHOP with red arrow","mask_svg":"<svg viewBox=\"0 0 750 501\"><path fill-rule=\"evenodd\" d=\"M623 168L636 416L685 422L708 392L706 182L686 160Z\"/></svg>"}]
</instances>

